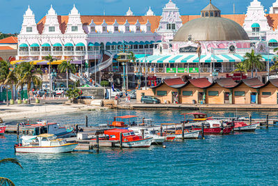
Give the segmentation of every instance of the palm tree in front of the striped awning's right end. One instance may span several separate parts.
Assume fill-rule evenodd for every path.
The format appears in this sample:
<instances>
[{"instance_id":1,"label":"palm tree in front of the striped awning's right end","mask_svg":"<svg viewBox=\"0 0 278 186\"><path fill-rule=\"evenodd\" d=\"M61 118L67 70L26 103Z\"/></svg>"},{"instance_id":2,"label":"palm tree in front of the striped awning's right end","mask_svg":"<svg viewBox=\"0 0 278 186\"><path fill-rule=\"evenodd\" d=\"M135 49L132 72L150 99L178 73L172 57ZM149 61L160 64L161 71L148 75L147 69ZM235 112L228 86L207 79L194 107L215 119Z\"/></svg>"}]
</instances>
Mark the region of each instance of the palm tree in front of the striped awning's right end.
<instances>
[{"instance_id":1,"label":"palm tree in front of the striped awning's right end","mask_svg":"<svg viewBox=\"0 0 278 186\"><path fill-rule=\"evenodd\" d=\"M245 63L247 70L252 70L252 78L254 69L262 70L265 67L263 62L261 62L263 61L263 57L260 54L254 54L254 49L252 49L251 53L247 52L244 58L243 63Z\"/></svg>"}]
</instances>

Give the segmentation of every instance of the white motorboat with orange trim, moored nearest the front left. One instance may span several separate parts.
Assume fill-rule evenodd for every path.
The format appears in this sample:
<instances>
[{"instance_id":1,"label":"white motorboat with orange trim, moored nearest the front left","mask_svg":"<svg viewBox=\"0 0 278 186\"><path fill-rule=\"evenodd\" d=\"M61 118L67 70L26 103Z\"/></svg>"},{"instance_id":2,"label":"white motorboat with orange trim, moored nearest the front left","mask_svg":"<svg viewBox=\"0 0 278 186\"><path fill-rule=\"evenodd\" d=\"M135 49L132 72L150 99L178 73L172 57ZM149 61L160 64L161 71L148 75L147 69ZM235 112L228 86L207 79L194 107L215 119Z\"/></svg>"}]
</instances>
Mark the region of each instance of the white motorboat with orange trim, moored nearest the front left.
<instances>
[{"instance_id":1,"label":"white motorboat with orange trim, moored nearest the front left","mask_svg":"<svg viewBox=\"0 0 278 186\"><path fill-rule=\"evenodd\" d=\"M69 153L78 143L67 143L54 134L40 134L36 137L22 137L22 144L15 144L15 153Z\"/></svg>"}]
</instances>

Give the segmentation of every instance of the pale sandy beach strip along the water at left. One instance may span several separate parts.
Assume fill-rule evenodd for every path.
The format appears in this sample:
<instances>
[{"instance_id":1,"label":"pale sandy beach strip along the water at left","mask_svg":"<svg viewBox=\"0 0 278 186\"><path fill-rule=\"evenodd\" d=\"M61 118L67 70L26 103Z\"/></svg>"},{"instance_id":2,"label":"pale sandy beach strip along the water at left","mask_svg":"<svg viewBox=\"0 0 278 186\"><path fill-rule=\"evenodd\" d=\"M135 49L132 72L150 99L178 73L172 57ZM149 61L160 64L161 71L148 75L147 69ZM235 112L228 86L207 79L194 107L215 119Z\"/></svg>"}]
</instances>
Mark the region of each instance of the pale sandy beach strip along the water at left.
<instances>
[{"instance_id":1,"label":"pale sandy beach strip along the water at left","mask_svg":"<svg viewBox=\"0 0 278 186\"><path fill-rule=\"evenodd\" d=\"M106 107L88 106L86 104L30 104L30 105L1 105L0 118L3 121L13 121L42 116L69 114L79 111L107 109Z\"/></svg>"}]
</instances>

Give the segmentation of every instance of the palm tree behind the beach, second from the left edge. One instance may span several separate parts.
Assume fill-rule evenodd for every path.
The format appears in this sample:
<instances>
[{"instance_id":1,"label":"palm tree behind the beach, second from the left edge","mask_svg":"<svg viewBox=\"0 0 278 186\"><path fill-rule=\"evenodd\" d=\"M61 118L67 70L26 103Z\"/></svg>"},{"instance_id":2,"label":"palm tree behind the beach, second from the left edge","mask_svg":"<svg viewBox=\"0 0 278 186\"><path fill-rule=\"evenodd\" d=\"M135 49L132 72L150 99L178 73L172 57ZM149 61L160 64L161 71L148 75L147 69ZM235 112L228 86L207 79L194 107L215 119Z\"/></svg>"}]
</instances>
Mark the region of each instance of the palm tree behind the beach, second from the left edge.
<instances>
[{"instance_id":1,"label":"palm tree behind the beach, second from the left edge","mask_svg":"<svg viewBox=\"0 0 278 186\"><path fill-rule=\"evenodd\" d=\"M33 82L34 85L40 86L40 84L42 84L42 79L38 77L38 74L42 75L42 71L35 69L35 65L28 62L20 63L18 68L23 75L22 79L19 80L19 83L27 84L28 103L30 104L31 82Z\"/></svg>"}]
</instances>

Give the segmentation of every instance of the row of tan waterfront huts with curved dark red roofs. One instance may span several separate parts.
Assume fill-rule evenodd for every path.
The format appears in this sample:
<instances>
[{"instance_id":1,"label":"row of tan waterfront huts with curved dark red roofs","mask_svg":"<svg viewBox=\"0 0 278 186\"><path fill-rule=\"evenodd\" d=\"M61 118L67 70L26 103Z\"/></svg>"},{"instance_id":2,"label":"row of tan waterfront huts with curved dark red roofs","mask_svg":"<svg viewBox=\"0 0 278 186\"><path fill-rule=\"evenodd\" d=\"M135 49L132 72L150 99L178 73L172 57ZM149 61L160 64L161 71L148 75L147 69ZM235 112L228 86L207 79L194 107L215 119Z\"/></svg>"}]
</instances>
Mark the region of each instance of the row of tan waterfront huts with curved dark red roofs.
<instances>
[{"instance_id":1,"label":"row of tan waterfront huts with curved dark red roofs","mask_svg":"<svg viewBox=\"0 0 278 186\"><path fill-rule=\"evenodd\" d=\"M243 79L239 83L231 78L213 83L206 78L165 79L158 86L137 91L142 95L156 96L165 104L278 104L278 79L263 84L258 78Z\"/></svg>"}]
</instances>

